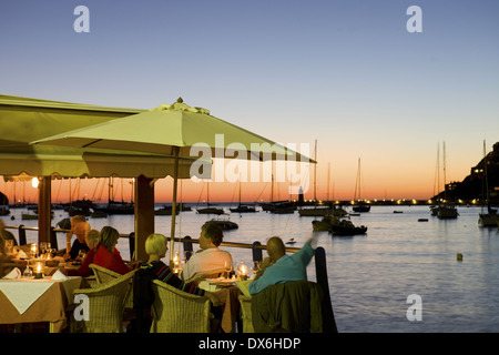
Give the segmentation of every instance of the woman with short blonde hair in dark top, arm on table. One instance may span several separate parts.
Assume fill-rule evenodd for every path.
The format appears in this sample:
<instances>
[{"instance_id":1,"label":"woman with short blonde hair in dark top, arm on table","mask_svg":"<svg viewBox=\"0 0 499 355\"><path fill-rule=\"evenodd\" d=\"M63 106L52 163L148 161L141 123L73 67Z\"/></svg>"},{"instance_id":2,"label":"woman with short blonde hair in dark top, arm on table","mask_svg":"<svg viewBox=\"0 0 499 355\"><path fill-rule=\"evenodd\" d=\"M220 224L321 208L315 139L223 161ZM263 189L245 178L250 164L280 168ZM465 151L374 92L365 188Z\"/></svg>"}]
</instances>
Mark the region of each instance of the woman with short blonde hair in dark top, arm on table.
<instances>
[{"instance_id":1,"label":"woman with short blonde hair in dark top, arm on table","mask_svg":"<svg viewBox=\"0 0 499 355\"><path fill-rule=\"evenodd\" d=\"M162 234L151 234L145 241L145 252L149 254L149 260L136 272L133 280L133 308L135 310L136 324L132 325L132 331L149 333L151 328L151 306L154 303L154 292L151 285L153 280L161 280L191 294L212 297L208 292L185 284L161 261L166 251L166 237Z\"/></svg>"}]
</instances>

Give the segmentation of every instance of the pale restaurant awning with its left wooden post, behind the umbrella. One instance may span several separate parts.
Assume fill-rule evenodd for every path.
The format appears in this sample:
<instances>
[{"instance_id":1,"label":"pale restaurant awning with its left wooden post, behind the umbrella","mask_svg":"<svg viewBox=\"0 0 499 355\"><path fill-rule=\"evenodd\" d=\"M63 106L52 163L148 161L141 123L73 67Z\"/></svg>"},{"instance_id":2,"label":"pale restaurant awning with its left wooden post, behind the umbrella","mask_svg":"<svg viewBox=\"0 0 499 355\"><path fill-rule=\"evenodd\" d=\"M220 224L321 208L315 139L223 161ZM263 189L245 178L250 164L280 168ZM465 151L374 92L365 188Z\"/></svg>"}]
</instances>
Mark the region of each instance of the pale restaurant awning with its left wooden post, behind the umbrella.
<instances>
[{"instance_id":1,"label":"pale restaurant awning with its left wooden post, behind the umbrella","mask_svg":"<svg viewBox=\"0 0 499 355\"><path fill-rule=\"evenodd\" d=\"M41 178L39 241L50 235L50 176L162 179L173 175L175 159L165 154L125 150L31 145L49 135L94 125L145 110L111 108L0 94L0 175ZM181 159L176 176L191 176L195 159ZM210 171L211 162L203 168ZM143 221L142 216L136 217ZM144 223L139 223L143 225ZM138 224L135 224L136 226Z\"/></svg>"}]
</instances>

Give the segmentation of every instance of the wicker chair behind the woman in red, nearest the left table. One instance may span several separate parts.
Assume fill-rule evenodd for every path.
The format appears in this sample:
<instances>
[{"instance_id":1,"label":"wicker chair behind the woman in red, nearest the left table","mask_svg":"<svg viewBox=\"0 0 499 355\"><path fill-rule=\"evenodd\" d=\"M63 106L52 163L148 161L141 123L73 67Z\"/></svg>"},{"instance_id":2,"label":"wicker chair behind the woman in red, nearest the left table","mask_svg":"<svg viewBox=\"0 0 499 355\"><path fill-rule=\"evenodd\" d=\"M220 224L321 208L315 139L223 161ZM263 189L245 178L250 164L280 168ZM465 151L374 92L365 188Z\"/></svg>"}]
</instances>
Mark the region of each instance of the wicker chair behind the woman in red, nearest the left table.
<instances>
[{"instance_id":1,"label":"wicker chair behind the woman in red, nearest the left table","mask_svg":"<svg viewBox=\"0 0 499 355\"><path fill-rule=\"evenodd\" d=\"M89 321L72 318L72 329L82 333L123 333L125 297L135 272L130 272L95 288L74 290L89 297Z\"/></svg>"}]
</instances>

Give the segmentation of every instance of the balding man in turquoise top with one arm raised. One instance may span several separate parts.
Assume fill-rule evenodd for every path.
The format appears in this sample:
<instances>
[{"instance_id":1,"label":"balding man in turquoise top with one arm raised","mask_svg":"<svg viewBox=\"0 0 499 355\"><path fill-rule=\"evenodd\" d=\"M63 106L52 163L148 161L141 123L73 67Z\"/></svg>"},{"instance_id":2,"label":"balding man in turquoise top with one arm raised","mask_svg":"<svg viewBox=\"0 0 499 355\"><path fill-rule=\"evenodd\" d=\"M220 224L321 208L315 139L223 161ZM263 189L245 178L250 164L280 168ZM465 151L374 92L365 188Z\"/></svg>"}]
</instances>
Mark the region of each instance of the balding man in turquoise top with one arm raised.
<instances>
[{"instance_id":1,"label":"balding man in turquoise top with one arm raised","mask_svg":"<svg viewBox=\"0 0 499 355\"><path fill-rule=\"evenodd\" d=\"M267 242L268 257L262 262L261 270L249 284L251 295L257 294L268 286L278 283L307 280L307 265L314 256L312 247L313 239L294 253L286 255L283 241L278 236L273 236Z\"/></svg>"}]
</instances>

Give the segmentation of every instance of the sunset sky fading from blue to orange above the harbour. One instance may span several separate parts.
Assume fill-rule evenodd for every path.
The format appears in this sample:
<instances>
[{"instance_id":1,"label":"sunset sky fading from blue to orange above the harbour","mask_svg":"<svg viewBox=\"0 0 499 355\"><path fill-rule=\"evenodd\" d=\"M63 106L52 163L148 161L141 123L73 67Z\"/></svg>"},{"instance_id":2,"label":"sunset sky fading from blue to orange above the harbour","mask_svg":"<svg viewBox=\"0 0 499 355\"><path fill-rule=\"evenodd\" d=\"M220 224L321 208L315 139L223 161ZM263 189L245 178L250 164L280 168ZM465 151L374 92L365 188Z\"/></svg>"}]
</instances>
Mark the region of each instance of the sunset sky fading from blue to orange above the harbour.
<instances>
[{"instance_id":1,"label":"sunset sky fading from blue to orange above the harbour","mask_svg":"<svg viewBox=\"0 0 499 355\"><path fill-rule=\"evenodd\" d=\"M90 32L74 30L78 6ZM408 31L410 6L422 32ZM442 142L449 182L469 174L483 140L488 151L499 141L498 14L497 0L1 1L0 93L138 109L182 97L307 144L310 158L317 140L319 199L328 181L330 197L354 197L358 159L363 197L428 199ZM312 166L307 176L310 199ZM81 181L79 196L95 195L95 183ZM274 199L289 197L287 187ZM185 181L184 201L205 200L202 189ZM54 182L53 200L68 191ZM160 180L156 201L171 191ZM269 193L269 183L243 183L243 200ZM236 201L237 183L211 183L210 200Z\"/></svg>"}]
</instances>

